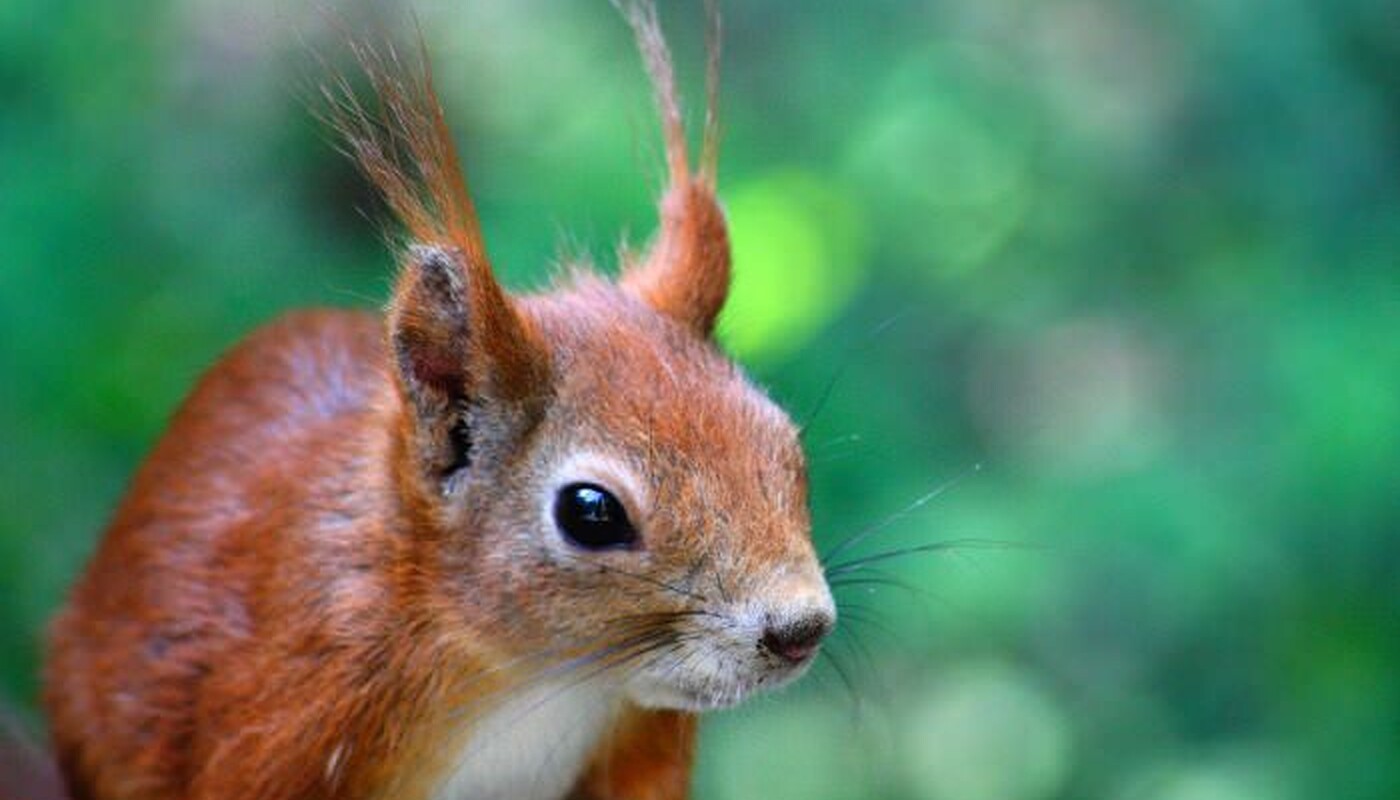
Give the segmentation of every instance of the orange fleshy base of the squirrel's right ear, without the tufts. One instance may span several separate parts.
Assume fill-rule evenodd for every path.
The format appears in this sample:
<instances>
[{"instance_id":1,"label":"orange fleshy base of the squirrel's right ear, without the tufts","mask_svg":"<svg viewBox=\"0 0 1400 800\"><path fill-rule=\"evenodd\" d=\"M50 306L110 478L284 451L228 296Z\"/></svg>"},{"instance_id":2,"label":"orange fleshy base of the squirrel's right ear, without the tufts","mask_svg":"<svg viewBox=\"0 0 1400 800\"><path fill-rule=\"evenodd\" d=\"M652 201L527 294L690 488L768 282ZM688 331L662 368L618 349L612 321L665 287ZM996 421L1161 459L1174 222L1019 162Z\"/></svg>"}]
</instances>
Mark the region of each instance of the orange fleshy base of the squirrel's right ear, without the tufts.
<instances>
[{"instance_id":1,"label":"orange fleshy base of the squirrel's right ear, without the tufts","mask_svg":"<svg viewBox=\"0 0 1400 800\"><path fill-rule=\"evenodd\" d=\"M666 191L657 240L622 284L701 336L714 332L729 294L729 231L707 179L692 177Z\"/></svg>"}]
</instances>

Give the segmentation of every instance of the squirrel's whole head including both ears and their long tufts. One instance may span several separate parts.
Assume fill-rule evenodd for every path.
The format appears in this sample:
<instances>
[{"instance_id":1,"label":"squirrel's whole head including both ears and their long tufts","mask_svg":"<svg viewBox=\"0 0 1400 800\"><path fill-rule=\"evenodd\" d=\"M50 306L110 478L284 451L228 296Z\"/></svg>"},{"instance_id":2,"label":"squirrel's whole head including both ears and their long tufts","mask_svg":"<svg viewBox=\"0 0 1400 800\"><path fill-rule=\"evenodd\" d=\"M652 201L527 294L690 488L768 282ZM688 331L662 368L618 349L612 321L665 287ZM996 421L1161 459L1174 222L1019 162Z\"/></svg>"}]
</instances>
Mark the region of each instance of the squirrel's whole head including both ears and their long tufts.
<instances>
[{"instance_id":1,"label":"squirrel's whole head including both ears and their long tufts","mask_svg":"<svg viewBox=\"0 0 1400 800\"><path fill-rule=\"evenodd\" d=\"M414 241L388 311L413 595L510 673L577 670L697 710L801 674L836 611L798 429L713 338L729 286L717 48L692 171L655 10L624 11L671 185L615 282L578 272L521 297L496 282L426 66L360 48L379 109L333 108Z\"/></svg>"}]
</instances>

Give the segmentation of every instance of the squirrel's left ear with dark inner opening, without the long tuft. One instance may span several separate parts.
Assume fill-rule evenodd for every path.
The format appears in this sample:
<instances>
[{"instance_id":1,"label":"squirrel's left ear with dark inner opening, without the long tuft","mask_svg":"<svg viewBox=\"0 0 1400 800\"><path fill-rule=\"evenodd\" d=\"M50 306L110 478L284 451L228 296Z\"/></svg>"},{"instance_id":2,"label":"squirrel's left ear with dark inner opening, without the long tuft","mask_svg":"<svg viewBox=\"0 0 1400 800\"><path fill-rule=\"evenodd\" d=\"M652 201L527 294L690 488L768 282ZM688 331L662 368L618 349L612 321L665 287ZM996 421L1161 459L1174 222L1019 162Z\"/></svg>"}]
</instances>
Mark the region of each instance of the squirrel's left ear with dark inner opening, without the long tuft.
<instances>
[{"instance_id":1,"label":"squirrel's left ear with dark inner opening, without the long tuft","mask_svg":"<svg viewBox=\"0 0 1400 800\"><path fill-rule=\"evenodd\" d=\"M489 269L469 269L456 249L409 248L388 324L406 433L427 475L491 457L538 419L547 359Z\"/></svg>"}]
</instances>

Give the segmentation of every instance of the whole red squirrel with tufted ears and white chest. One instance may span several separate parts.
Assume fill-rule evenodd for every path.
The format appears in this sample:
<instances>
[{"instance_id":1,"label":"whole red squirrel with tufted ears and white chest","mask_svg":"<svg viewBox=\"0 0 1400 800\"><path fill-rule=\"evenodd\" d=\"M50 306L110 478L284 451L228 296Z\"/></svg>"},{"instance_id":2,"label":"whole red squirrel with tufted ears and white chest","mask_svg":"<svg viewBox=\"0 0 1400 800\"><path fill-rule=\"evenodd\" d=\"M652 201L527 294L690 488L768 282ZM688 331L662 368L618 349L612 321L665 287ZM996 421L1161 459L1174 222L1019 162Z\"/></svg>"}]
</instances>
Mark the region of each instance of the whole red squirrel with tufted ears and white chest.
<instances>
[{"instance_id":1,"label":"whole red squirrel with tufted ears and white chest","mask_svg":"<svg viewBox=\"0 0 1400 800\"><path fill-rule=\"evenodd\" d=\"M812 663L798 429L714 340L717 45L692 163L622 7L659 230L539 294L493 275L426 57L354 48L377 102L329 116L406 231L392 298L253 332L140 467L49 640L74 800L678 799L697 713Z\"/></svg>"}]
</instances>

